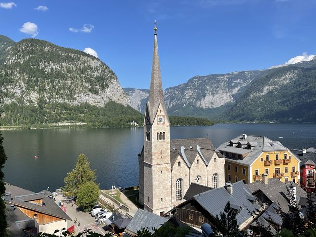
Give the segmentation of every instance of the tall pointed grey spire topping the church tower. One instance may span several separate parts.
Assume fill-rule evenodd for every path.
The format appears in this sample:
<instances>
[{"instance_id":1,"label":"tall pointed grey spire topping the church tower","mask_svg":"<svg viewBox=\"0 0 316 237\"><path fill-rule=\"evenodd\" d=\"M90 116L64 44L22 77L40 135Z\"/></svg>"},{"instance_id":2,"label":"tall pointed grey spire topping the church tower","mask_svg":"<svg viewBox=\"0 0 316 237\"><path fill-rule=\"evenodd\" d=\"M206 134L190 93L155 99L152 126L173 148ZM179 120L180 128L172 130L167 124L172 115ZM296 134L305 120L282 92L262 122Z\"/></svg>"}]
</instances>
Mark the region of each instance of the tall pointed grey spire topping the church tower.
<instances>
[{"instance_id":1,"label":"tall pointed grey spire topping the church tower","mask_svg":"<svg viewBox=\"0 0 316 237\"><path fill-rule=\"evenodd\" d=\"M163 99L158 44L157 44L156 21L155 21L154 31L155 31L155 34L154 34L152 76L151 76L151 82L150 82L150 94L149 94L149 101L148 101L149 116L150 116L151 122L153 122L155 119L155 115L157 114L158 107L161 104L161 106L163 107L166 113L166 121L169 121L167 110L165 109L165 103Z\"/></svg>"}]
</instances>

